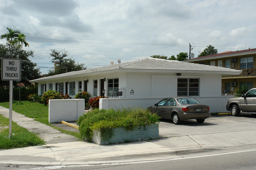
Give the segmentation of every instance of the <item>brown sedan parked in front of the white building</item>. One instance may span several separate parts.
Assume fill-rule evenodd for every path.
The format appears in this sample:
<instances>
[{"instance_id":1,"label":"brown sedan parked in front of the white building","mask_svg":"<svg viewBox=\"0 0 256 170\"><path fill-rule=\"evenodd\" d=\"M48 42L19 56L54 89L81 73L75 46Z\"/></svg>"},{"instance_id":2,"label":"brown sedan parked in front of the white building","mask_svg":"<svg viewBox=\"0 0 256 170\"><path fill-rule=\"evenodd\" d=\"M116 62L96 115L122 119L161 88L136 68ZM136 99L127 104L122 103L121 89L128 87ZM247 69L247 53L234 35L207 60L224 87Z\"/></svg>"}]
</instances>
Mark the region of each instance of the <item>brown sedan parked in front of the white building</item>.
<instances>
[{"instance_id":1,"label":"brown sedan parked in front of the white building","mask_svg":"<svg viewBox=\"0 0 256 170\"><path fill-rule=\"evenodd\" d=\"M186 119L196 119L198 123L203 123L204 119L211 116L209 106L191 97L165 98L148 109L162 118L172 119L174 124L180 124Z\"/></svg>"}]
</instances>

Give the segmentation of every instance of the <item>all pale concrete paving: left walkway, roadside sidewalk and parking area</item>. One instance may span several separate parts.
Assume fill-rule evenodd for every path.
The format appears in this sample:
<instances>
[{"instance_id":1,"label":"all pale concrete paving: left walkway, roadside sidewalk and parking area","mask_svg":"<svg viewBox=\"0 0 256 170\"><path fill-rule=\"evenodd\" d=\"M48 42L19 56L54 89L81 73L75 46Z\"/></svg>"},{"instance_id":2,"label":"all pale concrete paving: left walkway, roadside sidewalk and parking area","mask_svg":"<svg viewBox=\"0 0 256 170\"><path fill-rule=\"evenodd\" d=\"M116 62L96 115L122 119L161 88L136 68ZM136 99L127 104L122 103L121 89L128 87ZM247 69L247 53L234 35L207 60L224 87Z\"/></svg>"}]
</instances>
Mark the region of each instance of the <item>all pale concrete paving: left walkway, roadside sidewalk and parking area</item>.
<instances>
[{"instance_id":1,"label":"all pale concrete paving: left walkway, roadside sidewalk and parking area","mask_svg":"<svg viewBox=\"0 0 256 170\"><path fill-rule=\"evenodd\" d=\"M0 114L9 117L9 109L0 106ZM245 115L212 116L203 124L194 120L174 125L159 124L160 139L98 145L78 141L50 126L13 112L13 121L38 133L46 144L0 150L0 163L17 165L84 165L172 159L189 154L223 153L256 146L256 117ZM63 126L56 124L56 126Z\"/></svg>"}]
</instances>

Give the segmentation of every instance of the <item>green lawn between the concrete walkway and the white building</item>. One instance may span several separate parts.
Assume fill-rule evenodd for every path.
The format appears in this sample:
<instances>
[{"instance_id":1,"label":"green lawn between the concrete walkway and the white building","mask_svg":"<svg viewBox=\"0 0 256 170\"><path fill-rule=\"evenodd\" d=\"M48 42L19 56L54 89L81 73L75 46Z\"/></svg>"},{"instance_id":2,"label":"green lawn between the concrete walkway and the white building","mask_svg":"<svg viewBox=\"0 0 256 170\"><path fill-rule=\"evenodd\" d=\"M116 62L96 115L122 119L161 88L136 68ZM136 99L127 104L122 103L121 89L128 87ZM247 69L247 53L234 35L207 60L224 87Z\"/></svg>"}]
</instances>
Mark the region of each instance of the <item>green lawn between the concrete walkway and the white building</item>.
<instances>
[{"instance_id":1,"label":"green lawn between the concrete walkway and the white building","mask_svg":"<svg viewBox=\"0 0 256 170\"><path fill-rule=\"evenodd\" d=\"M1 102L0 106L9 108L9 102ZM41 104L38 102L30 102L30 101L21 101L20 103L19 101L13 101L13 111L20 113L22 115L25 115L26 117L30 117L35 121L39 121L48 126L51 126L52 128L55 128L61 131L62 133L65 133L67 135L73 135L74 137L77 137L80 139L80 133L63 130L49 123L48 122L48 106L45 106L44 104Z\"/></svg>"}]
</instances>

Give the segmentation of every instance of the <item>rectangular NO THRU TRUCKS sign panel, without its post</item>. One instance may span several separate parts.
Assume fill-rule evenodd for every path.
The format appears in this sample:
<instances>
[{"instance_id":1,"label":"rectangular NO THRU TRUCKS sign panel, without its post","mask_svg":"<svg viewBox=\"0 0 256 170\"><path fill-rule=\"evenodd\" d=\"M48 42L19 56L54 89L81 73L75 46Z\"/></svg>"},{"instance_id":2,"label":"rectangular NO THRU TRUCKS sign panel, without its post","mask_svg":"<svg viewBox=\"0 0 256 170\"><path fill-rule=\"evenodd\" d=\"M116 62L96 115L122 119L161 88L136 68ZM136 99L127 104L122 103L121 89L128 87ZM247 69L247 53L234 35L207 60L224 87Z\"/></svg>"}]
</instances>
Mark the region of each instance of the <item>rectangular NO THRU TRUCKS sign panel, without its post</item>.
<instances>
[{"instance_id":1,"label":"rectangular NO THRU TRUCKS sign panel, without its post","mask_svg":"<svg viewBox=\"0 0 256 170\"><path fill-rule=\"evenodd\" d=\"M2 80L20 80L21 60L2 58Z\"/></svg>"}]
</instances>

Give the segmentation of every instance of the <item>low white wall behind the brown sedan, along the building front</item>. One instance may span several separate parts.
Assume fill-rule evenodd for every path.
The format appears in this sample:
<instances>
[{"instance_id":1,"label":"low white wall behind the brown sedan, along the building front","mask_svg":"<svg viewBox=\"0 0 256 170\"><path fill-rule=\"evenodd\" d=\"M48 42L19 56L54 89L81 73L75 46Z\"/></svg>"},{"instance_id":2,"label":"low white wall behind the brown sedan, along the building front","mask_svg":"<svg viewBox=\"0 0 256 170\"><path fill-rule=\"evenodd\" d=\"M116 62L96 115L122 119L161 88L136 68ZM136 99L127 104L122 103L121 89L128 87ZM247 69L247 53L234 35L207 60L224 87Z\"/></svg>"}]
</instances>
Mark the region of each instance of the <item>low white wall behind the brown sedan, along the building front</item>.
<instances>
[{"instance_id":1,"label":"low white wall behind the brown sedan, along the building front","mask_svg":"<svg viewBox=\"0 0 256 170\"><path fill-rule=\"evenodd\" d=\"M226 104L228 99L234 96L220 96L220 97L194 97L202 104L207 104L210 107L211 113L224 113L226 110ZM138 98L138 99L111 99L103 98L100 99L100 109L122 109L122 108L147 108L155 103L159 102L163 98Z\"/></svg>"}]
</instances>

